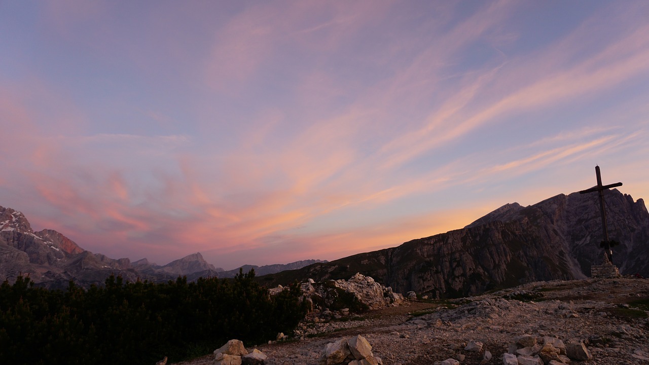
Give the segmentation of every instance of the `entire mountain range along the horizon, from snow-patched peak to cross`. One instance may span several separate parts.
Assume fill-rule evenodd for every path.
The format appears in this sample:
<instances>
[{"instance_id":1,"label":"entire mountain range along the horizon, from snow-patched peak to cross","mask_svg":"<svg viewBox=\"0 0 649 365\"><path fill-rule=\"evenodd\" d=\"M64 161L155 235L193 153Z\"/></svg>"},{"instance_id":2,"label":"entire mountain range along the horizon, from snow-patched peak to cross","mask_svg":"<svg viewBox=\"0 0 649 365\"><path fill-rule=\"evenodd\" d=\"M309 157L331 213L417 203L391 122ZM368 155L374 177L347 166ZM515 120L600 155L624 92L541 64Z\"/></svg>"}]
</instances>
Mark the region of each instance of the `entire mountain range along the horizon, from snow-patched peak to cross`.
<instances>
[{"instance_id":1,"label":"entire mountain range along the horizon, from snow-patched peak to cross","mask_svg":"<svg viewBox=\"0 0 649 365\"><path fill-rule=\"evenodd\" d=\"M649 213L643 199L633 201L618 190L606 190L606 211L613 263L623 274L649 276ZM462 229L405 242L397 247L360 253L331 262L304 260L254 268L266 285L307 278L349 279L357 272L391 286L433 297L457 297L532 281L583 279L604 258L596 194L559 194L522 207L506 204ZM64 288L70 279L89 286L111 273L126 280L173 280L186 275L233 277L195 253L164 266L145 258L131 262L80 248L62 234L34 232L21 212L0 207L0 279L29 273L36 283ZM263 276L261 276L263 275Z\"/></svg>"}]
</instances>

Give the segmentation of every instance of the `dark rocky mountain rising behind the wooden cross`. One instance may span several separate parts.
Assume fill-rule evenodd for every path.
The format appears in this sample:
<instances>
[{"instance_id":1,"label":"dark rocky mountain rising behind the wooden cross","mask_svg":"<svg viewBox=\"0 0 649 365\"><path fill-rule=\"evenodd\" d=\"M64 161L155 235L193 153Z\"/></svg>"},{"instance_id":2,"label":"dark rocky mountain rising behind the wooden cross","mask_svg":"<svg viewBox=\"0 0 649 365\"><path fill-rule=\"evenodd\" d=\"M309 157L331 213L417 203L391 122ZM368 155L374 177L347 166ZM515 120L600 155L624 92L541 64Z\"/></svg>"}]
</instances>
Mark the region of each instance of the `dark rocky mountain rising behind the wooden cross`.
<instances>
[{"instance_id":1,"label":"dark rocky mountain rising behind the wooden cross","mask_svg":"<svg viewBox=\"0 0 649 365\"><path fill-rule=\"evenodd\" d=\"M617 190L605 192L605 199L609 237L620 242L613 263L623 274L649 276L644 201ZM339 279L358 271L399 293L471 295L531 281L583 279L602 262L602 237L597 194L561 194L529 207L505 205L463 229L315 264L295 275Z\"/></svg>"}]
</instances>

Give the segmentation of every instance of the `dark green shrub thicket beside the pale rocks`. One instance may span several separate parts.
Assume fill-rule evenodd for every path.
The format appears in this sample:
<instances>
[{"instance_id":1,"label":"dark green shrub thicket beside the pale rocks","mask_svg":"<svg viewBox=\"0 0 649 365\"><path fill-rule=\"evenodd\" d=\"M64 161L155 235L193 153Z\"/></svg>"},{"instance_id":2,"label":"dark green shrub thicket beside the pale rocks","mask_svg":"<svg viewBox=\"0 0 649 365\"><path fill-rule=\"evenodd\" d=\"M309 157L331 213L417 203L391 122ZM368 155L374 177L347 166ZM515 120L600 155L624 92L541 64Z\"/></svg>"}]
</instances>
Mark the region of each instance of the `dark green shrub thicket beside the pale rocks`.
<instances>
[{"instance_id":1,"label":"dark green shrub thicket beside the pale rocks","mask_svg":"<svg viewBox=\"0 0 649 365\"><path fill-rule=\"evenodd\" d=\"M210 353L238 338L249 344L292 333L306 315L297 284L273 296L254 271L232 279L186 277L67 290L19 276L0 285L0 364L155 364Z\"/></svg>"}]
</instances>

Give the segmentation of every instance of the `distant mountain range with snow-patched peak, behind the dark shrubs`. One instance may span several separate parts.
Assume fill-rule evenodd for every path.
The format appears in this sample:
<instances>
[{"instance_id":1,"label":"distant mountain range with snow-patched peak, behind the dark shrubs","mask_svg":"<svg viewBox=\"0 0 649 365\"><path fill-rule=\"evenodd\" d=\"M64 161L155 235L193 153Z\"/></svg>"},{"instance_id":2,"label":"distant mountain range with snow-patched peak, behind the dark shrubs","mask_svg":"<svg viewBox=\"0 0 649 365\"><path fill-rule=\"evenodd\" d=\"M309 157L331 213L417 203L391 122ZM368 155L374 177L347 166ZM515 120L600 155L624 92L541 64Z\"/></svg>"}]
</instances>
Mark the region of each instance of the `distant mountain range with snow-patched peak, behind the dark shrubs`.
<instances>
[{"instance_id":1,"label":"distant mountain range with snow-patched peak, behind the dark shrubs","mask_svg":"<svg viewBox=\"0 0 649 365\"><path fill-rule=\"evenodd\" d=\"M254 268L260 275L281 270L302 268L321 260L303 260L290 264L243 266L247 272ZM326 261L325 261L326 262ZM103 284L111 274L125 280L167 281L178 276L188 280L198 277L234 277L239 270L225 271L204 260L201 253L160 266L146 258L131 262L129 258L109 258L92 253L51 229L34 232L25 216L12 208L0 207L0 279L15 279L30 275L34 283L47 288L66 288L73 279L80 286Z\"/></svg>"}]
</instances>

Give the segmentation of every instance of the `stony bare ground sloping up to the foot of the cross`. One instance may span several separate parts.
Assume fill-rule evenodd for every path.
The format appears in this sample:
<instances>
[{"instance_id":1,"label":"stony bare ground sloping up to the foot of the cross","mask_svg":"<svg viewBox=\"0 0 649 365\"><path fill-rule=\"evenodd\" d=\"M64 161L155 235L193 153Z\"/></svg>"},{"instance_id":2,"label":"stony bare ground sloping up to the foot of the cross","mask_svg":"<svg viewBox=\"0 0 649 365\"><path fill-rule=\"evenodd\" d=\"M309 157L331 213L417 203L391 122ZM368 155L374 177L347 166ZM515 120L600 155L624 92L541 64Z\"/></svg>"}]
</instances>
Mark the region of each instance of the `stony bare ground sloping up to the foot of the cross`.
<instances>
[{"instance_id":1,"label":"stony bare ground sloping up to the foot of the cross","mask_svg":"<svg viewBox=\"0 0 649 365\"><path fill-rule=\"evenodd\" d=\"M265 364L318 364L324 346L361 334L383 363L434 364L458 359L502 364L516 336L552 336L584 342L592 360L578 364L649 364L649 280L587 279L528 283L482 296L450 301L408 301L339 320L305 321L300 339L258 346ZM471 341L481 351L465 351ZM215 344L215 348L222 344ZM214 355L181 362L212 364Z\"/></svg>"}]
</instances>

